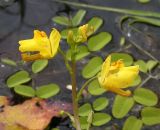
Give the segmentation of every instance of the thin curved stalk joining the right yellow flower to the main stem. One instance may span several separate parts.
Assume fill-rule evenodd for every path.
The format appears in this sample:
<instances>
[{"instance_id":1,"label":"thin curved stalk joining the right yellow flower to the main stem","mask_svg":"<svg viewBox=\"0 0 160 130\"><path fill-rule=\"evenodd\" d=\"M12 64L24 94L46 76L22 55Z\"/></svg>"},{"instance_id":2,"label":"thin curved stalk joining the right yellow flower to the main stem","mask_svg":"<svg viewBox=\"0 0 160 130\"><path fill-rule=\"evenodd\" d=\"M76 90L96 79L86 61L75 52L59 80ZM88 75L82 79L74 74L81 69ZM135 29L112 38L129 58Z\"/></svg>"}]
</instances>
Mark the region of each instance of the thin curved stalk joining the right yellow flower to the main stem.
<instances>
[{"instance_id":1,"label":"thin curved stalk joining the right yellow flower to the main stem","mask_svg":"<svg viewBox=\"0 0 160 130\"><path fill-rule=\"evenodd\" d=\"M89 84L91 81L93 81L93 80L96 79L96 78L97 78L97 76L94 76L94 77L90 78L89 80L87 80L87 81L83 84L83 86L81 87L81 89L80 89L79 92L78 92L77 102L79 101L79 99L80 99L80 97L81 97L81 95L82 95L82 93L83 93L83 90L88 86L88 84Z\"/></svg>"}]
</instances>

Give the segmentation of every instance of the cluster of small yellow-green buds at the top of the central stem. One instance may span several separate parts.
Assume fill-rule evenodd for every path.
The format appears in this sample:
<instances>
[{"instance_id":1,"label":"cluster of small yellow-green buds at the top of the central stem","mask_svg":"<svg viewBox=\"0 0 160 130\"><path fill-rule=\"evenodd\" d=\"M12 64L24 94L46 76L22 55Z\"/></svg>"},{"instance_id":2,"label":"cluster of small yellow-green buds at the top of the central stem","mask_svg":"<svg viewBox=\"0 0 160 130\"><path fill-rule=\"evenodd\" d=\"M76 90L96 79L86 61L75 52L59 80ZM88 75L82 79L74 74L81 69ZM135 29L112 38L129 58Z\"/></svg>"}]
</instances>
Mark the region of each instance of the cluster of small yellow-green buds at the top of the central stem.
<instances>
[{"instance_id":1,"label":"cluster of small yellow-green buds at the top of the central stem","mask_svg":"<svg viewBox=\"0 0 160 130\"><path fill-rule=\"evenodd\" d=\"M70 30L67 36L67 42L69 44L75 43L83 43L87 41L87 38L90 36L91 33L94 32L93 27L89 27L88 24L80 26L76 32Z\"/></svg>"}]
</instances>

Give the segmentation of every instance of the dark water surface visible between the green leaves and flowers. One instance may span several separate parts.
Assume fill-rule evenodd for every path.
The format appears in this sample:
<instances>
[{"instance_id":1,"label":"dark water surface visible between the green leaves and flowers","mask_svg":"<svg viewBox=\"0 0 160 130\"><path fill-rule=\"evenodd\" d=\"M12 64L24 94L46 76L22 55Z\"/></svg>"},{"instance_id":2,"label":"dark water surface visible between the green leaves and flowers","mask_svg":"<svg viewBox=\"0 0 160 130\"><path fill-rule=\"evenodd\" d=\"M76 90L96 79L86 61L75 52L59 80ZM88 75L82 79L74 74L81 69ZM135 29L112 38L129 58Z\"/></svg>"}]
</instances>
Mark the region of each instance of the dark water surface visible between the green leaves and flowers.
<instances>
[{"instance_id":1,"label":"dark water surface visible between the green leaves and flowers","mask_svg":"<svg viewBox=\"0 0 160 130\"><path fill-rule=\"evenodd\" d=\"M152 10L152 11L160 11L159 5L160 1L152 1L149 4L139 4L136 0L79 0L79 2L84 2L88 4L95 5L106 5L111 7L118 8L128 8L128 9L141 9L141 10ZM44 30L48 34L51 28L62 28L51 21L51 18L57 14L65 14L70 11L70 13L74 13L77 11L77 8L68 7L63 4L54 3L50 0L23 0L23 1L14 1L11 0L9 3L4 2L4 0L0 1L0 58L8 57L15 61L19 61L21 59L20 53L18 52L18 41L20 39L27 39L33 36L33 30L39 29ZM156 59L160 60L159 50L160 50L160 31L159 28L146 26L146 25L137 25L142 32L145 32L145 35L141 33L135 33L131 28L125 28L125 31L121 31L118 27L117 20L122 14L116 14L111 12L97 11L97 10L87 10L87 15L83 21L83 23L87 22L93 16L99 16L104 19L103 27L99 31L108 31L113 35L112 42L105 47L101 55L106 56L110 52L115 52L119 50L119 40L123 35L127 38L127 43L136 43L141 48L151 53ZM131 34L131 37L127 37L128 33ZM149 36L149 37L148 37ZM64 42L62 42L62 46L65 48ZM133 44L132 47L124 50L127 53L133 54L135 59L144 59L149 60L153 59L148 55L141 52L137 49ZM71 92L66 89L66 85L70 84L70 79L68 72L65 70L62 59L58 55L53 60L50 60L49 66L45 71L40 73L35 78L35 83L37 86L47 84L47 83L57 83L63 89L61 93L55 98L65 101L71 101ZM80 66L86 63L86 60L79 63ZM29 65L27 69L29 69ZM6 66L0 63L0 95L12 96L10 90L5 85L5 79L12 73L16 72L18 68L13 68L10 66ZM155 73L159 72L159 69L155 70ZM143 76L145 77L145 76ZM80 86L84 81L81 76L78 75ZM150 80L146 87L151 88L155 92L160 93L158 80ZM160 94L159 94L160 95ZM107 97L112 97L110 100L113 100L113 95L106 95ZM53 99L54 100L54 99ZM111 106L110 106L111 108ZM111 109L108 108L106 111L111 113ZM138 111L138 107L133 109L133 113ZM66 121L68 122L68 121ZM65 123L66 123L65 122ZM118 120L114 120L108 124L108 126L113 124L122 125L124 120L121 122ZM69 130L66 127L67 124L60 124L62 130ZM100 130L103 128L94 128L93 130ZM114 128L112 128L114 130ZM152 126L152 127L144 127L143 130L159 130L160 126Z\"/></svg>"}]
</instances>

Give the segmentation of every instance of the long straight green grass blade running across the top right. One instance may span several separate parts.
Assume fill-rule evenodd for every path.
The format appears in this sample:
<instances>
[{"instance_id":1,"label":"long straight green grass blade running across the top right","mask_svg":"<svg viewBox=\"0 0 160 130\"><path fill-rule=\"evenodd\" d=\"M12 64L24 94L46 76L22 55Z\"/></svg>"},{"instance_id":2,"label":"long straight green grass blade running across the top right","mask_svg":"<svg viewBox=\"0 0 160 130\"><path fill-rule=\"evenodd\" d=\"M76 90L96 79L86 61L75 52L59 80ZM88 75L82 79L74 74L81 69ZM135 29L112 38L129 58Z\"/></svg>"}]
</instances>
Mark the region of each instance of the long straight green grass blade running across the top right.
<instances>
[{"instance_id":1,"label":"long straight green grass blade running across the top right","mask_svg":"<svg viewBox=\"0 0 160 130\"><path fill-rule=\"evenodd\" d=\"M102 10L102 11L110 11L110 12L123 13L123 14L129 14L129 15L160 18L160 13L153 12L153 11L130 10L130 9L120 9L120 8L113 8L113 7L106 7L106 6L96 6L96 5L72 2L72 1L67 1L67 0L53 0L53 1L58 2L58 3L68 4L71 6L76 6L76 7L90 8L90 9L96 9L96 10Z\"/></svg>"}]
</instances>

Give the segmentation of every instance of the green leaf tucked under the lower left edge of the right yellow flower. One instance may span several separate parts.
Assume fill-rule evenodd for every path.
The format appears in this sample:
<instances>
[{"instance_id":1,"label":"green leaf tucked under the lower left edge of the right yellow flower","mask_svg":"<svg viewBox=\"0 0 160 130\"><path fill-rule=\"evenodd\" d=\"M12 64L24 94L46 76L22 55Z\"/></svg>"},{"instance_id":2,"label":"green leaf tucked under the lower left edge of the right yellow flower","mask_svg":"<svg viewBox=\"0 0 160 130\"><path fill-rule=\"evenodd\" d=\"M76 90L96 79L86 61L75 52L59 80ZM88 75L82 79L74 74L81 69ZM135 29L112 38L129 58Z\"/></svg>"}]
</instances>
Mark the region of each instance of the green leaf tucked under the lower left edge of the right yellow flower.
<instances>
[{"instance_id":1,"label":"green leaf tucked under the lower left edge of the right yellow flower","mask_svg":"<svg viewBox=\"0 0 160 130\"><path fill-rule=\"evenodd\" d=\"M102 88L98 82L97 79L93 80L89 85L88 85L88 92L91 95L102 95L104 92L106 92L104 88Z\"/></svg>"}]
</instances>

